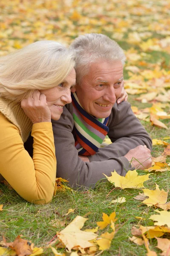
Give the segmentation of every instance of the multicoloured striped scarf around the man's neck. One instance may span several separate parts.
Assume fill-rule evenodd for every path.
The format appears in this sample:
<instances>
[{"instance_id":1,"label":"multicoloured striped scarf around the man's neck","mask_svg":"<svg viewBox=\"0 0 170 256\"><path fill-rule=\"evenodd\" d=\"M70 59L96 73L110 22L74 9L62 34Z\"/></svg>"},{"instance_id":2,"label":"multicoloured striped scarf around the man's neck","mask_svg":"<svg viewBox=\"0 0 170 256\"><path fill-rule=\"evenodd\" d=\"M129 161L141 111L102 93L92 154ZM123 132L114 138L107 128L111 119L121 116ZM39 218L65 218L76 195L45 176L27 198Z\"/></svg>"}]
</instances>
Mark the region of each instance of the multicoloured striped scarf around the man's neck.
<instances>
[{"instance_id":1,"label":"multicoloured striped scarf around the man's neck","mask_svg":"<svg viewBox=\"0 0 170 256\"><path fill-rule=\"evenodd\" d=\"M80 105L76 93L72 93L75 148L79 155L94 155L100 148L109 131L107 118L98 118L88 114Z\"/></svg>"}]
</instances>

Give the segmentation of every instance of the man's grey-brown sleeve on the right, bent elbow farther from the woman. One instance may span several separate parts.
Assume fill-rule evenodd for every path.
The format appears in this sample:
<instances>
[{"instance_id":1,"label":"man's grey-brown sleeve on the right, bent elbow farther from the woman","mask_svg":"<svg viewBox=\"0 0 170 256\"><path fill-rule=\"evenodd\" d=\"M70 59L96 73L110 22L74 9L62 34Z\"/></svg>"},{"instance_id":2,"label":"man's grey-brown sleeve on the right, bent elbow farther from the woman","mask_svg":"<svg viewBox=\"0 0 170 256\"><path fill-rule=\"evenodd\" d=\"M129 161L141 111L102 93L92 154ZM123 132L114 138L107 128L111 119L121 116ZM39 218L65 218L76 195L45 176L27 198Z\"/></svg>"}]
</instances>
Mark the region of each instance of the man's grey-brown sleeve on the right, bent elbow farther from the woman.
<instances>
[{"instance_id":1,"label":"man's grey-brown sleeve on the right, bent elbow farther from the woman","mask_svg":"<svg viewBox=\"0 0 170 256\"><path fill-rule=\"evenodd\" d=\"M130 104L115 104L109 118L109 133L112 144L99 148L98 152L88 157L90 162L103 161L110 157L121 157L138 145L147 145L152 150L152 140L145 128L135 117Z\"/></svg>"}]
</instances>

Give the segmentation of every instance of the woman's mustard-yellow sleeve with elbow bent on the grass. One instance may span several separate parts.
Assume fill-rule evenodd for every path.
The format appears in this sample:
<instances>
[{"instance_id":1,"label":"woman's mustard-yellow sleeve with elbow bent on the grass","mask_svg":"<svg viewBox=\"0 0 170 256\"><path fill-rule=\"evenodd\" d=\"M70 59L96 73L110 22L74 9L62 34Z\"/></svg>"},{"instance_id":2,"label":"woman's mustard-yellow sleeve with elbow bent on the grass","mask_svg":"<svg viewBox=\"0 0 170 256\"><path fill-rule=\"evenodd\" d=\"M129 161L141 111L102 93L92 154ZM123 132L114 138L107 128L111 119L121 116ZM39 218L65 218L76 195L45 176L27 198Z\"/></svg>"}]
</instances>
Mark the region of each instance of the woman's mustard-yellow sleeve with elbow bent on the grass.
<instances>
[{"instance_id":1,"label":"woman's mustard-yellow sleeve with elbow bent on the grass","mask_svg":"<svg viewBox=\"0 0 170 256\"><path fill-rule=\"evenodd\" d=\"M0 174L25 200L46 204L52 200L56 177L52 123L34 124L32 137L33 159L18 128L0 113Z\"/></svg>"}]
</instances>

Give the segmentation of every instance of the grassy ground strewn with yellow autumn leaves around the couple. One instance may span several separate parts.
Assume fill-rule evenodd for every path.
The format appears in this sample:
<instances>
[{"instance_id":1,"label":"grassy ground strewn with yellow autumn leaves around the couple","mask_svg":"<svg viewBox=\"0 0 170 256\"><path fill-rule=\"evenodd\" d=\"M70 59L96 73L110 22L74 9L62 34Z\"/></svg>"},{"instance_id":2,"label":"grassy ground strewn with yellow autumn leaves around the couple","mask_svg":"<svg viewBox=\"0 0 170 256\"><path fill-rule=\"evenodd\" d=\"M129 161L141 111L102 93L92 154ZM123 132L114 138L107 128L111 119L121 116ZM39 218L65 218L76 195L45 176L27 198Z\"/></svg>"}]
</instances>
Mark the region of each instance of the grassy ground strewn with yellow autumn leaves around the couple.
<instances>
[{"instance_id":1,"label":"grassy ground strewn with yellow autumn leaves around the couple","mask_svg":"<svg viewBox=\"0 0 170 256\"><path fill-rule=\"evenodd\" d=\"M58 180L42 206L0 184L0 255L170 255L170 1L0 1L0 55L91 32L125 51L125 88L153 139L153 166L123 179L113 173L94 190Z\"/></svg>"}]
</instances>

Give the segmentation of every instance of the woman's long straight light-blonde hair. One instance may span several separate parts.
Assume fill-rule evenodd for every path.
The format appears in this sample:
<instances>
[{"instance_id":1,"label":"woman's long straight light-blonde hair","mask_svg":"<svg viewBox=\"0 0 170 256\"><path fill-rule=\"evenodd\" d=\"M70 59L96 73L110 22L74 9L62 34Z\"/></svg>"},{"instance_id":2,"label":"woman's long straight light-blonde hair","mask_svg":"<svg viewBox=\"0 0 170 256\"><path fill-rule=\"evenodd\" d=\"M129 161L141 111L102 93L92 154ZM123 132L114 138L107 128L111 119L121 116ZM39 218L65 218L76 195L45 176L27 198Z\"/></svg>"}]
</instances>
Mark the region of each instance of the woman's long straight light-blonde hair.
<instances>
[{"instance_id":1,"label":"woman's long straight light-blonde hair","mask_svg":"<svg viewBox=\"0 0 170 256\"><path fill-rule=\"evenodd\" d=\"M75 51L55 41L37 41L0 57L0 96L20 102L35 90L60 84L75 66Z\"/></svg>"}]
</instances>

